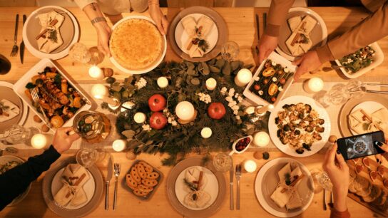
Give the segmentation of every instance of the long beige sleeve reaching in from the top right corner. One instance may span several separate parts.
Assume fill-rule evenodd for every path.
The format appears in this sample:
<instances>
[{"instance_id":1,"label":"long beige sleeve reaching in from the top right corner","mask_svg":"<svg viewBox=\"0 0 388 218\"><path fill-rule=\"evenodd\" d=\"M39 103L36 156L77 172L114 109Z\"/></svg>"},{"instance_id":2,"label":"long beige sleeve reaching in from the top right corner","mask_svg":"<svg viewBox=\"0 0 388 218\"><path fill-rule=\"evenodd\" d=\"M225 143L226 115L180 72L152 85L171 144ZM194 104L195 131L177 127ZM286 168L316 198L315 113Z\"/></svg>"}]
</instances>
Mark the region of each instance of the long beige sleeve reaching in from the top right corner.
<instances>
[{"instance_id":1,"label":"long beige sleeve reaching in from the top right corner","mask_svg":"<svg viewBox=\"0 0 388 218\"><path fill-rule=\"evenodd\" d=\"M341 36L330 40L326 46L317 48L320 61L342 58L359 48L374 43L388 35L388 1L363 21Z\"/></svg>"}]
</instances>

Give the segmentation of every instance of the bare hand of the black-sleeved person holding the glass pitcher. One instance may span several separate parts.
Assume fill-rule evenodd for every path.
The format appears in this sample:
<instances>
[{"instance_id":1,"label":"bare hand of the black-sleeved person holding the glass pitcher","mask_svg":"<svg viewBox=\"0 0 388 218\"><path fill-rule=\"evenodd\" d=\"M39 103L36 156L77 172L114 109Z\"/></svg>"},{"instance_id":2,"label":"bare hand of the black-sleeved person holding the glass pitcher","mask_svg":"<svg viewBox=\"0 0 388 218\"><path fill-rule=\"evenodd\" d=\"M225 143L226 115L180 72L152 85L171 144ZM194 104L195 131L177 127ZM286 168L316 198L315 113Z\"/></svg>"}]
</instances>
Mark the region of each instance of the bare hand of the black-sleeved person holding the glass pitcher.
<instances>
[{"instance_id":1,"label":"bare hand of the black-sleeved person holding the glass pitcher","mask_svg":"<svg viewBox=\"0 0 388 218\"><path fill-rule=\"evenodd\" d=\"M58 128L53 138L53 147L58 153L66 152L71 144L80 137L77 133L69 135L73 128Z\"/></svg>"}]
</instances>

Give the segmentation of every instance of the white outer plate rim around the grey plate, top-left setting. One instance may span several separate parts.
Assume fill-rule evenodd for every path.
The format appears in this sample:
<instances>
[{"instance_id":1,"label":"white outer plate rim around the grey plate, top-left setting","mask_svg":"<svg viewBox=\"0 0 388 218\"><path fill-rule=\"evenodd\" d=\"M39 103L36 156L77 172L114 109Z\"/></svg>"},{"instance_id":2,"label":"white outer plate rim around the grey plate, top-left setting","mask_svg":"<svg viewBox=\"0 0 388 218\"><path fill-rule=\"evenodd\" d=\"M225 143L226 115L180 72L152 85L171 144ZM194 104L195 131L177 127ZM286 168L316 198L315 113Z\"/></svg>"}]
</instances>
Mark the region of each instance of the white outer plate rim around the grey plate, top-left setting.
<instances>
[{"instance_id":1,"label":"white outer plate rim around the grey plate, top-left setting","mask_svg":"<svg viewBox=\"0 0 388 218\"><path fill-rule=\"evenodd\" d=\"M73 23L73 26L74 26L73 38L71 39L70 43L68 43L66 48L58 53L44 53L44 52L37 50L36 48L34 48L34 46L32 46L31 42L29 41L29 37L27 36L27 28L29 27L30 22L34 21L34 19L38 19L37 15L43 13L42 11L47 11L48 9L56 9L56 11L65 12L70 17L71 22ZM61 30L61 28L60 28L60 30ZM52 60L63 58L64 56L68 55L68 50L70 49L70 46L73 43L76 43L78 41L78 37L79 37L79 26L78 26L78 22L76 20L76 17L73 16L73 14L71 14L70 11L63 9L60 6L44 6L44 7L40 7L39 9L36 9L27 17L26 24L24 24L24 26L23 26L24 44L26 45L26 48L29 50L29 52L31 52L32 55L36 56L36 58L41 58L41 59L50 58Z\"/></svg>"}]
</instances>

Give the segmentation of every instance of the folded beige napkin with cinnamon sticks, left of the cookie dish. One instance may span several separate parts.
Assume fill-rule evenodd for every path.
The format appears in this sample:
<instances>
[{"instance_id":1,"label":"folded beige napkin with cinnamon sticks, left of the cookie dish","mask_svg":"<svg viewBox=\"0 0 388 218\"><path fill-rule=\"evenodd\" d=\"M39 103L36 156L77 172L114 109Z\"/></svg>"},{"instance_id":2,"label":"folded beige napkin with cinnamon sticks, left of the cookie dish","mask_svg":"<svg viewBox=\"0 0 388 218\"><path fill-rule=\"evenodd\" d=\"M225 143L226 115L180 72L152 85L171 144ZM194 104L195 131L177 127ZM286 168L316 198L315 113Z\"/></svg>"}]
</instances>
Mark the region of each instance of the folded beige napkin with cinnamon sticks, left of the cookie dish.
<instances>
[{"instance_id":1,"label":"folded beige napkin with cinnamon sticks, left of the cookie dish","mask_svg":"<svg viewBox=\"0 0 388 218\"><path fill-rule=\"evenodd\" d=\"M71 206L76 207L88 201L88 197L82 188L90 178L85 167L78 164L69 164L63 170L61 178L63 187L54 196L58 204L65 207L70 203Z\"/></svg>"}]
</instances>

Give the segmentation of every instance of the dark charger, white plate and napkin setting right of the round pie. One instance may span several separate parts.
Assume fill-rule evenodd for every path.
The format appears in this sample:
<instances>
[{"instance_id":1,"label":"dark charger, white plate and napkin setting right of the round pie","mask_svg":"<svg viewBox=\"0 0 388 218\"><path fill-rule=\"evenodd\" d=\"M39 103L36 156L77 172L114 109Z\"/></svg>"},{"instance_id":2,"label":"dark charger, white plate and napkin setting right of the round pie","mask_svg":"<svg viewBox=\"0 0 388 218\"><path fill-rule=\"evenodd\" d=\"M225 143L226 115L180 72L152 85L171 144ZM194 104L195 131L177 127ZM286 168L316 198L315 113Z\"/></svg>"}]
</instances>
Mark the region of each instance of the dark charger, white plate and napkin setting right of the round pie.
<instances>
[{"instance_id":1,"label":"dark charger, white plate and napkin setting right of the round pie","mask_svg":"<svg viewBox=\"0 0 388 218\"><path fill-rule=\"evenodd\" d=\"M216 11L193 6L175 16L168 37L171 48L181 58L209 61L220 53L221 46L227 41L227 31L225 21Z\"/></svg>"}]
</instances>

